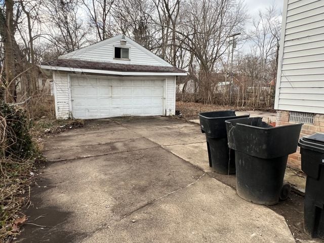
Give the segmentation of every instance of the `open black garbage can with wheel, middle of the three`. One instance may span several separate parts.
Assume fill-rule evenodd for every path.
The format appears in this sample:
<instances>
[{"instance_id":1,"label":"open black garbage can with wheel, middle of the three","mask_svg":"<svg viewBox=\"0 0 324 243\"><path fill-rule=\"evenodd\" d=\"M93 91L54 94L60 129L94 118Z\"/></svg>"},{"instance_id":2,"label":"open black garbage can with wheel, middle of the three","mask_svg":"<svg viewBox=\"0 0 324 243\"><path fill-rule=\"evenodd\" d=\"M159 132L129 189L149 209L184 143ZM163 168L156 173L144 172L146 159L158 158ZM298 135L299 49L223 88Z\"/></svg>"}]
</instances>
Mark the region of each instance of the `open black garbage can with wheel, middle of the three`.
<instances>
[{"instance_id":1,"label":"open black garbage can with wheel, middle of the three","mask_svg":"<svg viewBox=\"0 0 324 243\"><path fill-rule=\"evenodd\" d=\"M261 117L226 122L228 145L235 150L236 192L255 204L287 199L283 184L288 155L296 152L302 124L272 127Z\"/></svg>"}]
</instances>

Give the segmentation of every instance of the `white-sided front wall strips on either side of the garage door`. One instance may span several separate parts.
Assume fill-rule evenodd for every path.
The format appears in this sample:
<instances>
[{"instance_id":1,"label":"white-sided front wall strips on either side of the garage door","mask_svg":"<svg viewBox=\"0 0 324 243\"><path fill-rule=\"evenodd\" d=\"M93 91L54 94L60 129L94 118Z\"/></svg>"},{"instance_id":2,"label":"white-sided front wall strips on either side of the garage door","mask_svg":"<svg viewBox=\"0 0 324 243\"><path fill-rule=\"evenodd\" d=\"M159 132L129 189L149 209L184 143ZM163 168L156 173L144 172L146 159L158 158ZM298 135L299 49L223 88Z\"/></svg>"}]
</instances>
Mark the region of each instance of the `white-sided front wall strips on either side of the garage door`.
<instances>
[{"instance_id":1,"label":"white-sided front wall strips on either side of the garage door","mask_svg":"<svg viewBox=\"0 0 324 243\"><path fill-rule=\"evenodd\" d=\"M53 84L55 96L56 118L66 119L71 115L70 112L70 89L68 87L68 72L53 71ZM158 76L167 79L166 87L166 111L167 115L175 114L175 77ZM148 78L148 77L147 77Z\"/></svg>"}]
</instances>

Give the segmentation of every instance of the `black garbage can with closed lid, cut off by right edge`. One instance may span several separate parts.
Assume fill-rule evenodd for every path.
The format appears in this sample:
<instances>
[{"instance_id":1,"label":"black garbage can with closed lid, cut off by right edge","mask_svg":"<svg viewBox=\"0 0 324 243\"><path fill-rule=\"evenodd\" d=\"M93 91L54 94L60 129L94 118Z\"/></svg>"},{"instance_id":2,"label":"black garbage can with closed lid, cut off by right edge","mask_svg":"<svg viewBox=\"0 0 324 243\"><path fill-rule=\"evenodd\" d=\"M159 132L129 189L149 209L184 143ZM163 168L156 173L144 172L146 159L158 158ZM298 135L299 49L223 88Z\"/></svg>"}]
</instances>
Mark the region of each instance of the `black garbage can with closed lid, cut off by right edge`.
<instances>
[{"instance_id":1,"label":"black garbage can with closed lid, cut off by right edge","mask_svg":"<svg viewBox=\"0 0 324 243\"><path fill-rule=\"evenodd\" d=\"M324 239L324 134L301 138L299 146L307 175L304 229L311 237Z\"/></svg>"}]
</instances>

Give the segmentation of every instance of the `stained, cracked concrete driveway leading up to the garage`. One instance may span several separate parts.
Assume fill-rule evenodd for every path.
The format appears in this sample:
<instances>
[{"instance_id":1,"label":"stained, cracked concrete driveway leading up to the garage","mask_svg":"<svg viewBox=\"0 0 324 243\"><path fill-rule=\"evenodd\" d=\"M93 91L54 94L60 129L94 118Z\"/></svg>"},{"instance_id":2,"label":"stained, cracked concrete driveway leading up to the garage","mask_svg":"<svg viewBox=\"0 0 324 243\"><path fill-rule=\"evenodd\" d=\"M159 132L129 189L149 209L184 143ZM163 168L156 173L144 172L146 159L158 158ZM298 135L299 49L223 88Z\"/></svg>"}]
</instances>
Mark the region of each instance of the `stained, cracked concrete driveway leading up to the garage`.
<instances>
[{"instance_id":1,"label":"stained, cracked concrete driveway leading up to the garage","mask_svg":"<svg viewBox=\"0 0 324 243\"><path fill-rule=\"evenodd\" d=\"M295 242L282 216L213 178L197 125L100 119L45 147L26 212L38 226L21 242Z\"/></svg>"}]
</instances>

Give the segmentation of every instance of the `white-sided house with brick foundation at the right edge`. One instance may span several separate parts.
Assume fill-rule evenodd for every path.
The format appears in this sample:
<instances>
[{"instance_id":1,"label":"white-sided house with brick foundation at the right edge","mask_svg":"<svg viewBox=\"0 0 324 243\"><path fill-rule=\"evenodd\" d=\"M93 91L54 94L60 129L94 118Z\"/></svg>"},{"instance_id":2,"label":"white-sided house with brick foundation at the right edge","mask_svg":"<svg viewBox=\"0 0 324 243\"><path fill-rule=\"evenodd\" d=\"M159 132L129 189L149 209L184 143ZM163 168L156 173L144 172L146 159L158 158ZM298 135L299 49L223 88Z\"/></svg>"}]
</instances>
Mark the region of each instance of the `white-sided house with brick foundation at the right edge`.
<instances>
[{"instance_id":1,"label":"white-sided house with brick foundation at the right edge","mask_svg":"<svg viewBox=\"0 0 324 243\"><path fill-rule=\"evenodd\" d=\"M324 132L324 0L284 0L274 108L277 126ZM288 164L300 168L299 149Z\"/></svg>"}]
</instances>

